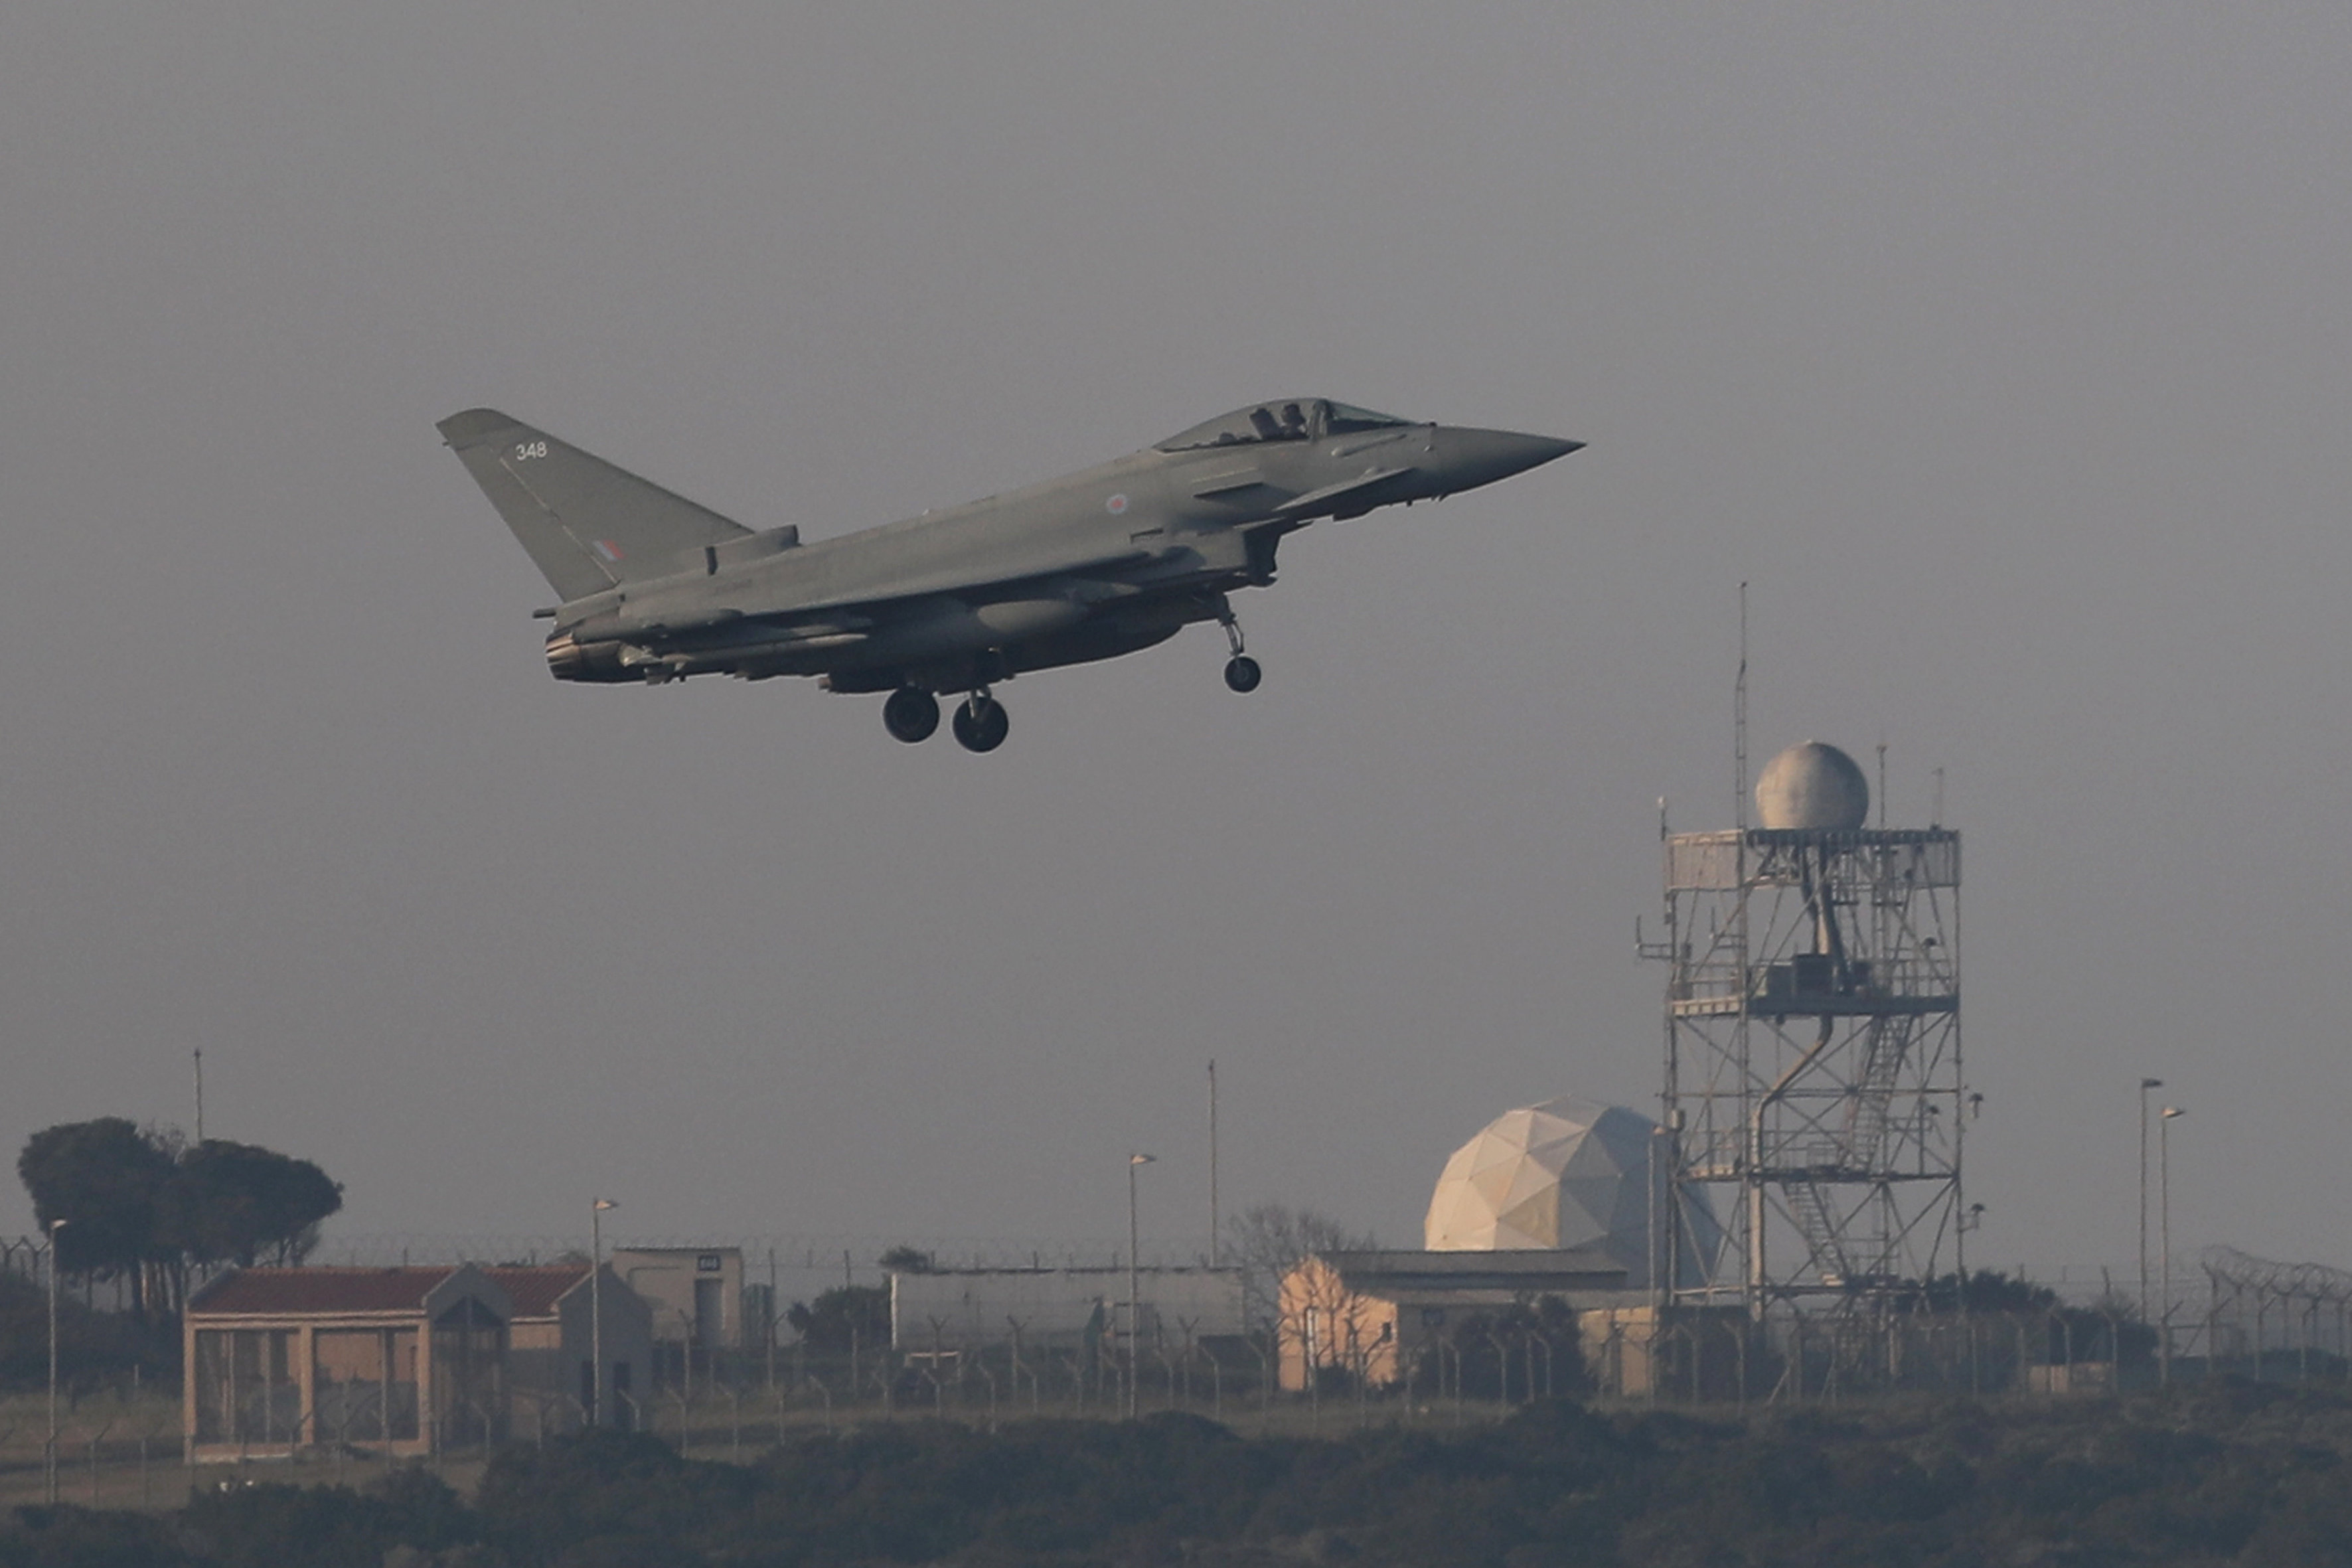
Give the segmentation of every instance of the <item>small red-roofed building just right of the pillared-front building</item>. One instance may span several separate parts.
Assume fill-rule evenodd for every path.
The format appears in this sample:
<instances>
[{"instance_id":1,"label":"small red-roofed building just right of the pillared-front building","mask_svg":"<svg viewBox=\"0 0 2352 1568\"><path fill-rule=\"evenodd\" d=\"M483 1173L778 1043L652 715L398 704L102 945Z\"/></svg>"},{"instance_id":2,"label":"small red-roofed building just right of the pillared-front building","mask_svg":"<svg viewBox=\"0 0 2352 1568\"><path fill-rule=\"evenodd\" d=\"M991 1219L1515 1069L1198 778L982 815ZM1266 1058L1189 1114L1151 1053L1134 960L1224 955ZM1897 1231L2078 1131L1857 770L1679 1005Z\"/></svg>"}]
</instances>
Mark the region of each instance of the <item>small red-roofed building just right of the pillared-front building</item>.
<instances>
[{"instance_id":1,"label":"small red-roofed building just right of the pillared-front building","mask_svg":"<svg viewBox=\"0 0 2352 1568\"><path fill-rule=\"evenodd\" d=\"M654 1309L612 1265L604 1265L602 1300L588 1288L586 1262L482 1272L513 1302L506 1363L517 1436L576 1432L600 1399L612 1410L607 1425L623 1432L647 1425L637 1401L652 1387ZM602 1387L593 1373L597 1338L604 1342Z\"/></svg>"}]
</instances>

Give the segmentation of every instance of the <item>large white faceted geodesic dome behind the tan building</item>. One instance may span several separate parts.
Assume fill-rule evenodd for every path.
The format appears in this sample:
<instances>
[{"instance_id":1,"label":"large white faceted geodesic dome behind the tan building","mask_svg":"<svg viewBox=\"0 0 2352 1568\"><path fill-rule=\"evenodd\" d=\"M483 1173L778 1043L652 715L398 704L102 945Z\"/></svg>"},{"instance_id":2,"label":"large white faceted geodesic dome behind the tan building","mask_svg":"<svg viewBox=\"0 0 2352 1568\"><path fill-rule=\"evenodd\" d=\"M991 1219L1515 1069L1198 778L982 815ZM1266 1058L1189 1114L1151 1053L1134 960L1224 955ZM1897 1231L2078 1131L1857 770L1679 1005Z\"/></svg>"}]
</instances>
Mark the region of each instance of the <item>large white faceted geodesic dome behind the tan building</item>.
<instances>
[{"instance_id":1,"label":"large white faceted geodesic dome behind the tan building","mask_svg":"<svg viewBox=\"0 0 2352 1568\"><path fill-rule=\"evenodd\" d=\"M1517 1248L1595 1246L1625 1265L1628 1284L1649 1286L1649 1190L1663 1190L1665 1168L1651 1168L1658 1124L1623 1105L1562 1095L1508 1110L1477 1138L1454 1150L1423 1244L1432 1253L1498 1253ZM1682 1225L1682 1279L1710 1272L1722 1241L1715 1213L1693 1194ZM1703 1265L1700 1260L1708 1260Z\"/></svg>"}]
</instances>

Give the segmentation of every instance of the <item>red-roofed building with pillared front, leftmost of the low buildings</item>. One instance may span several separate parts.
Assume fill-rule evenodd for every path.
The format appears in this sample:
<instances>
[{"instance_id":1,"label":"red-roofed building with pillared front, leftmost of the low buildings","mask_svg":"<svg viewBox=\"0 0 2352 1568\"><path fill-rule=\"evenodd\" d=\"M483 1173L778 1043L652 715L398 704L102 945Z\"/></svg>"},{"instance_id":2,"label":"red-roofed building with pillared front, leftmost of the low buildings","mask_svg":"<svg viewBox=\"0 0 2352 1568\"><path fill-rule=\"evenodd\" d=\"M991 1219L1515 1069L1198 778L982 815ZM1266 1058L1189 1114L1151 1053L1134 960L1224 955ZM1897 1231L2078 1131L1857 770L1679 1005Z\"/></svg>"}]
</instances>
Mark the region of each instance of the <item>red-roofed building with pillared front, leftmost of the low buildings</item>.
<instances>
[{"instance_id":1,"label":"red-roofed building with pillared front, leftmost of the low buildings","mask_svg":"<svg viewBox=\"0 0 2352 1568\"><path fill-rule=\"evenodd\" d=\"M510 1316L473 1265L223 1274L181 1314L188 1460L503 1441Z\"/></svg>"}]
</instances>

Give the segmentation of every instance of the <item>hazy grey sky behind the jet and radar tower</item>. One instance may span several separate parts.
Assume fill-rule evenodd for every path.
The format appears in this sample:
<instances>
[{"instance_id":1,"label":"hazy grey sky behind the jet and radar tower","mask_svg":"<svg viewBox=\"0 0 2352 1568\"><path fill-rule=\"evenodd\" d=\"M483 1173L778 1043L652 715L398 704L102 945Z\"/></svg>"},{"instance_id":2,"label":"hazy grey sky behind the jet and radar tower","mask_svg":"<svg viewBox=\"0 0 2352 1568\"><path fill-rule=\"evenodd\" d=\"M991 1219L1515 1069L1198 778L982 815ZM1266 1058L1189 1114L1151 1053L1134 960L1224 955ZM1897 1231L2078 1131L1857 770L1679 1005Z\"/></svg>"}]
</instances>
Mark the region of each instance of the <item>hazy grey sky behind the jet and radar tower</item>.
<instances>
[{"instance_id":1,"label":"hazy grey sky behind the jet and radar tower","mask_svg":"<svg viewBox=\"0 0 2352 1568\"><path fill-rule=\"evenodd\" d=\"M42 5L0 24L0 1145L188 1121L341 1232L1416 1241L1646 1105L1656 797L1966 832L1990 1262L2352 1262L2352 9ZM993 757L572 689L433 421L887 522L1319 393L1571 435L1317 527ZM21 1192L0 1229L31 1222Z\"/></svg>"}]
</instances>

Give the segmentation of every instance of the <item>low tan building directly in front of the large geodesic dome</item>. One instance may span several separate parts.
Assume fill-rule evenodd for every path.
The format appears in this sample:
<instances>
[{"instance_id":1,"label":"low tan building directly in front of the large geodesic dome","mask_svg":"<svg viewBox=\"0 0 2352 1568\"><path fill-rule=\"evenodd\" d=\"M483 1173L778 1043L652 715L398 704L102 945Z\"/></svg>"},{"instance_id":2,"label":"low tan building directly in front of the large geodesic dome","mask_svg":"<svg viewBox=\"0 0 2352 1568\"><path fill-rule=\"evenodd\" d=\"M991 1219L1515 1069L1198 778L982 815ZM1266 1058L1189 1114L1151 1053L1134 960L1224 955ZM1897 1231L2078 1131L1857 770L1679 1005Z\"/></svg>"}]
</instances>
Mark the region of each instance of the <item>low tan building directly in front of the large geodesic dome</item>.
<instances>
[{"instance_id":1,"label":"low tan building directly in front of the large geodesic dome","mask_svg":"<svg viewBox=\"0 0 2352 1568\"><path fill-rule=\"evenodd\" d=\"M1305 1389L1308 1368L1341 1368L1374 1387L1392 1385L1470 1319L1559 1298L1576 1312L1585 1361L1604 1356L1649 1387L1649 1295L1628 1291L1625 1265L1604 1248L1411 1253L1334 1251L1305 1258L1282 1279L1277 1375ZM1632 1361L1628 1349L1637 1347Z\"/></svg>"}]
</instances>

